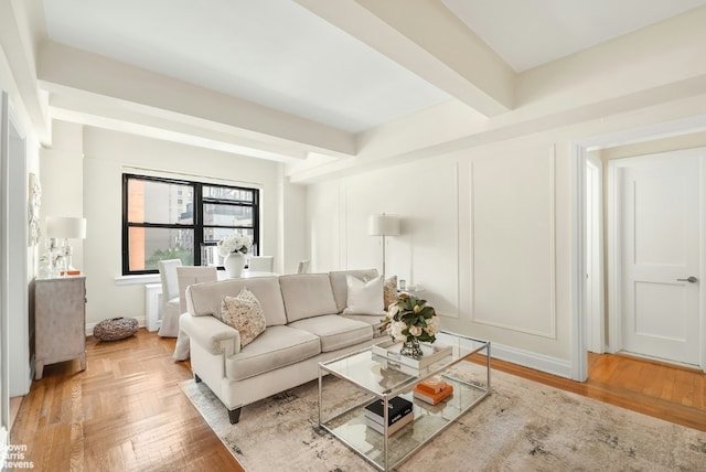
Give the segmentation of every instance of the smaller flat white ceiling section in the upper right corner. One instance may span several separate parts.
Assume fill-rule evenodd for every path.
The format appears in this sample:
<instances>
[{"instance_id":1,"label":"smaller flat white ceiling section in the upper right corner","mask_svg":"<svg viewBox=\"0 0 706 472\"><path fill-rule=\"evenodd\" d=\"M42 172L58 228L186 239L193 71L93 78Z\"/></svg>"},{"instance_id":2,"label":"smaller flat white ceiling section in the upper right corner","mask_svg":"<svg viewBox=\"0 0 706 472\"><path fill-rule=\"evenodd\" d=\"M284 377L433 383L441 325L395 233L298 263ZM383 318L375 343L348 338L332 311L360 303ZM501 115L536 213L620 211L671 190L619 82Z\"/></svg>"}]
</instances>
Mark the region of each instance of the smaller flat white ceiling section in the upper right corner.
<instances>
[{"instance_id":1,"label":"smaller flat white ceiling section in the upper right corner","mask_svg":"<svg viewBox=\"0 0 706 472\"><path fill-rule=\"evenodd\" d=\"M442 0L515 72L706 4L704 0Z\"/></svg>"}]
</instances>

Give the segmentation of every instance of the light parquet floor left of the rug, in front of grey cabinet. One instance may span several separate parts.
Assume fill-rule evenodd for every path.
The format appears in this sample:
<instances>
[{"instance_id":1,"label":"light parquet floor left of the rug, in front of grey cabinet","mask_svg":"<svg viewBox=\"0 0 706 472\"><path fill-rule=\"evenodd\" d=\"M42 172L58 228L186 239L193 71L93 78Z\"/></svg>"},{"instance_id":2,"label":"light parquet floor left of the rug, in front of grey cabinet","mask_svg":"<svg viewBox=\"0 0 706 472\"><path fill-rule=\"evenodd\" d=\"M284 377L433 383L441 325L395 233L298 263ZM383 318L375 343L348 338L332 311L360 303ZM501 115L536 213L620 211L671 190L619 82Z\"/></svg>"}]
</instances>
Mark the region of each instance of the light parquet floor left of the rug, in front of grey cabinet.
<instances>
[{"instance_id":1,"label":"light parquet floor left of the rug, in front of grey cabinet","mask_svg":"<svg viewBox=\"0 0 706 472\"><path fill-rule=\"evenodd\" d=\"M173 339L140 330L111 343L87 340L78 361L45 367L11 431L38 471L242 471L179 388L189 363Z\"/></svg>"}]
</instances>

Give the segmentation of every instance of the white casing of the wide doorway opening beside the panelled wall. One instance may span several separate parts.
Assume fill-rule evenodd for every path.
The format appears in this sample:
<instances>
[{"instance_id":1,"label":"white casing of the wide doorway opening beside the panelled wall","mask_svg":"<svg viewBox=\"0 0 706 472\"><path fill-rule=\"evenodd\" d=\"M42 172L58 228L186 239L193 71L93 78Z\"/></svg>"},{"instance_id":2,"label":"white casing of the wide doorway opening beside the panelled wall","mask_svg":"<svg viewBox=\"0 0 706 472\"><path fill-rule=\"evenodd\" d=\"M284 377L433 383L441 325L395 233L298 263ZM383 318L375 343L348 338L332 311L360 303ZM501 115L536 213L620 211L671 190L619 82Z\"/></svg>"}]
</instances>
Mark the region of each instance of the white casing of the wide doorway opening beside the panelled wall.
<instances>
[{"instance_id":1,"label":"white casing of the wide doorway opening beside the panelled wall","mask_svg":"<svg viewBox=\"0 0 706 472\"><path fill-rule=\"evenodd\" d=\"M584 300L586 299L586 159L590 151L617 144L648 141L668 136L706 130L706 115L675 119L657 125L643 126L618 132L597 135L569 143L571 175L571 379L588 378L588 348ZM704 174L704 169L702 169ZM706 189L702 189L702 201ZM702 240L702 245L704 242ZM702 267L706 266L706 254L702 250ZM702 285L704 290L706 282ZM703 292L702 292L703 293ZM700 368L706 372L706 320L700 320Z\"/></svg>"}]
</instances>

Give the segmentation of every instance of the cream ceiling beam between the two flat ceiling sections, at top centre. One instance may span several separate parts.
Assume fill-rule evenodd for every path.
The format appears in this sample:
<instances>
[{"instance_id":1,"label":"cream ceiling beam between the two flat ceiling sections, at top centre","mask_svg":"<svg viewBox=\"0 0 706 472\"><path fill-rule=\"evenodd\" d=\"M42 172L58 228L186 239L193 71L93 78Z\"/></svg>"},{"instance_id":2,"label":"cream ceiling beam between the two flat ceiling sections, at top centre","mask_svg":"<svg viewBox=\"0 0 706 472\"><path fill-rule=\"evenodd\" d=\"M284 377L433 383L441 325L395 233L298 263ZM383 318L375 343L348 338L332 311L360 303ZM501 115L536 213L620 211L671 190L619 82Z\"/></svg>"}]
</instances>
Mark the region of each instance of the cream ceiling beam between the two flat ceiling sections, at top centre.
<instances>
[{"instance_id":1,"label":"cream ceiling beam between the two flat ceiling sections, at top centre","mask_svg":"<svg viewBox=\"0 0 706 472\"><path fill-rule=\"evenodd\" d=\"M438 0L296 0L492 117L513 108L514 71Z\"/></svg>"}]
</instances>

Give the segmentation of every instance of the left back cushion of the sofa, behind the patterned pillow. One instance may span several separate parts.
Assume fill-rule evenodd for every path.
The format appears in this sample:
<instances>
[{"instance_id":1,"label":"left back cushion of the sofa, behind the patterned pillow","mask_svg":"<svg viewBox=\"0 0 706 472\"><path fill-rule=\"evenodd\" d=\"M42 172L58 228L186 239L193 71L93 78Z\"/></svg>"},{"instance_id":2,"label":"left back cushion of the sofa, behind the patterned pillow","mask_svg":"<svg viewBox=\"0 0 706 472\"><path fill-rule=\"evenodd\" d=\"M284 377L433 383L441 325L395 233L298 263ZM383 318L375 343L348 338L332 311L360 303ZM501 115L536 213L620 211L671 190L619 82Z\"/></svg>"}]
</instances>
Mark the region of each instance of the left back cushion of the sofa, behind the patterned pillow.
<instances>
[{"instance_id":1,"label":"left back cushion of the sofa, behind the patterned pillow","mask_svg":"<svg viewBox=\"0 0 706 472\"><path fill-rule=\"evenodd\" d=\"M260 302L268 326L287 324L285 304L279 290L278 277L255 277L252 279L228 279L215 282L195 283L186 289L186 307L194 317L216 315L224 296L237 297L248 289Z\"/></svg>"}]
</instances>

